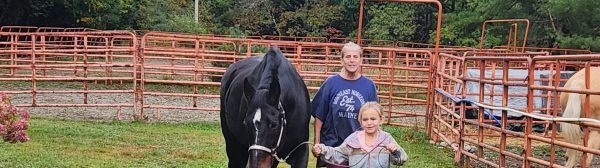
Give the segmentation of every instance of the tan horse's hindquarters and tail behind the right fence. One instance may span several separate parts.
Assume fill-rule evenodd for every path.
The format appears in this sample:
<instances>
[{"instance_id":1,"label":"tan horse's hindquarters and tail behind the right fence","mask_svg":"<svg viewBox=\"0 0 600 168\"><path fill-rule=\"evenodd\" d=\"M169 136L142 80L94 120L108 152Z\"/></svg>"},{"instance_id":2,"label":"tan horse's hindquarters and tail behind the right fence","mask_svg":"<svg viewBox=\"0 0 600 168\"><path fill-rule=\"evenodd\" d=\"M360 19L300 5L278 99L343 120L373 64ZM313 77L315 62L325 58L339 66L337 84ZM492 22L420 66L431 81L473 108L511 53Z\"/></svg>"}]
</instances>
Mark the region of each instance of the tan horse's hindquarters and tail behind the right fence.
<instances>
[{"instance_id":1,"label":"tan horse's hindquarters and tail behind the right fence","mask_svg":"<svg viewBox=\"0 0 600 168\"><path fill-rule=\"evenodd\" d=\"M600 67L590 68L590 90L600 90ZM585 89L585 69L575 73L565 84L566 88L570 89ZM563 117L566 118L582 118L584 115L584 94L578 93L561 93L560 105L563 110ZM600 95L590 95L590 116L589 118L600 119ZM583 132L579 125L564 123L562 124L562 134L565 141L571 144L582 144L581 137ZM600 149L600 130L590 129L588 147ZM567 149L567 164L566 167L575 167L581 159L582 153L573 149ZM594 155L588 154L586 165L589 167L592 163Z\"/></svg>"}]
</instances>

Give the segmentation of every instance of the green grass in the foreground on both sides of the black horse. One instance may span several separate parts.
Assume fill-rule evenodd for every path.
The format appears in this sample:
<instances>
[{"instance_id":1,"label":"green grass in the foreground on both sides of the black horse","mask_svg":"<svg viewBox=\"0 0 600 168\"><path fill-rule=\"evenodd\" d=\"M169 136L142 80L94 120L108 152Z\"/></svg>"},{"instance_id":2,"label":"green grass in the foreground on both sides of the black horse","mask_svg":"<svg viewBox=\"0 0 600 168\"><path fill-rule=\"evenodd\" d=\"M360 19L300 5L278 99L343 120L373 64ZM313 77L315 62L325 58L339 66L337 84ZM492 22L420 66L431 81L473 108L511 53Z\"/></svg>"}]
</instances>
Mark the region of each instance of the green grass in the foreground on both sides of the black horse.
<instances>
[{"instance_id":1,"label":"green grass in the foreground on both sides of the black horse","mask_svg":"<svg viewBox=\"0 0 600 168\"><path fill-rule=\"evenodd\" d=\"M30 124L29 142L0 143L0 167L226 167L224 140L219 124L214 122L32 118ZM389 126L384 129L408 153L405 167L455 167L452 155L429 145L423 132ZM310 167L314 160L310 156Z\"/></svg>"}]
</instances>

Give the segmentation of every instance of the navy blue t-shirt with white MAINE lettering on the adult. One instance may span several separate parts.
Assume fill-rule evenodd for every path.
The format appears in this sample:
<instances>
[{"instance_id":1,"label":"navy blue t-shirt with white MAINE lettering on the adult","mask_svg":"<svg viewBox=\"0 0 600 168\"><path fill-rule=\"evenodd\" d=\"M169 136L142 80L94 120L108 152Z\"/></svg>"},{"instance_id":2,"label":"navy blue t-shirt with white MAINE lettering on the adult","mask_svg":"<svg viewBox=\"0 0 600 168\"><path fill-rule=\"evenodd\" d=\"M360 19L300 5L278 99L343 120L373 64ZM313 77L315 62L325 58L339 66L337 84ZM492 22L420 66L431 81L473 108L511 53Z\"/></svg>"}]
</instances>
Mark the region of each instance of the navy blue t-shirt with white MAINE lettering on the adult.
<instances>
[{"instance_id":1,"label":"navy blue t-shirt with white MAINE lettering on the adult","mask_svg":"<svg viewBox=\"0 0 600 168\"><path fill-rule=\"evenodd\" d=\"M370 101L377 101L377 90L375 83L365 76L357 80L346 80L340 75L327 78L311 102L313 117L323 122L320 143L342 144L360 128L358 112Z\"/></svg>"}]
</instances>

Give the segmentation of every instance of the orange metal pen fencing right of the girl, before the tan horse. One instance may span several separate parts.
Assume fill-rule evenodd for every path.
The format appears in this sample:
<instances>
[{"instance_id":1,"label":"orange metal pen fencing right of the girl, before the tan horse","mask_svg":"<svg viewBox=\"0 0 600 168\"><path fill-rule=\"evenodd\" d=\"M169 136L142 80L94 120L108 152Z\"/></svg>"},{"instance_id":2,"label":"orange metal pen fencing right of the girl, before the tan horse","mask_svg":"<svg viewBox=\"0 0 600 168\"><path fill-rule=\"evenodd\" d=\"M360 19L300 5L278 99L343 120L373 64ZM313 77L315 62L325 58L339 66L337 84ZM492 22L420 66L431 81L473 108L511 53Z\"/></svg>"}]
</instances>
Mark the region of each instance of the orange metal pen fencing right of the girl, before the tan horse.
<instances>
[{"instance_id":1,"label":"orange metal pen fencing right of the girl, before the tan horse","mask_svg":"<svg viewBox=\"0 0 600 168\"><path fill-rule=\"evenodd\" d=\"M583 145L576 145L562 140L557 132L564 121L543 118L561 116L559 92L600 95L598 90L562 88L573 68L600 66L600 56L465 52L463 56L441 54L437 64L432 138L452 144L457 163L465 167L562 167L564 155L560 153L566 148L599 154L600 150L585 146L589 130L599 124L581 124L587 132ZM506 107L525 113L499 110ZM534 152L540 150L545 152Z\"/></svg>"}]
</instances>

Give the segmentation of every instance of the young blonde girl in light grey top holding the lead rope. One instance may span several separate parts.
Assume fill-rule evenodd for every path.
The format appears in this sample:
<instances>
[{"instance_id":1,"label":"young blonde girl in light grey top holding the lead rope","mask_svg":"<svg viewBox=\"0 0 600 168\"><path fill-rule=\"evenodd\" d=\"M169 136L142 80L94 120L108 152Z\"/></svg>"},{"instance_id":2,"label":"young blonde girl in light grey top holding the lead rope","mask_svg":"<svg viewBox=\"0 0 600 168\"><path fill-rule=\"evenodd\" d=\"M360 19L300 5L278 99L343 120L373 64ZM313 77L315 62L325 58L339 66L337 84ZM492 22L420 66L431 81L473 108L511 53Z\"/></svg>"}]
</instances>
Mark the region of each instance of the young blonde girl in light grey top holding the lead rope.
<instances>
[{"instance_id":1,"label":"young blonde girl in light grey top holding the lead rope","mask_svg":"<svg viewBox=\"0 0 600 168\"><path fill-rule=\"evenodd\" d=\"M362 130L350 134L338 147L316 144L313 153L333 165L389 167L389 161L402 165L408 156L389 133L380 129L381 112L382 107L376 102L365 103L358 114Z\"/></svg>"}]
</instances>

